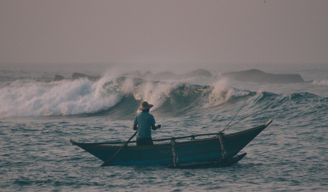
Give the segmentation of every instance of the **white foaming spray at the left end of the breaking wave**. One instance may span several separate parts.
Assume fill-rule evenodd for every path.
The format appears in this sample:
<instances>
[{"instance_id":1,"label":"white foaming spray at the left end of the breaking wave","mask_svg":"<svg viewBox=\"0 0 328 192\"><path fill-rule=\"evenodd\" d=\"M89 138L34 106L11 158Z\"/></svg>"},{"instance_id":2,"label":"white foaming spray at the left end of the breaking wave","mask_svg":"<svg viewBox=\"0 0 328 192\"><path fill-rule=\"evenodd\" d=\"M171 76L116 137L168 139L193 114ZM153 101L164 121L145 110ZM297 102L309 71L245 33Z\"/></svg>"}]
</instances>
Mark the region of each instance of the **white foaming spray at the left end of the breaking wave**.
<instances>
[{"instance_id":1,"label":"white foaming spray at the left end of the breaking wave","mask_svg":"<svg viewBox=\"0 0 328 192\"><path fill-rule=\"evenodd\" d=\"M86 79L1 89L0 116L5 117L94 113L114 106L121 98L116 92L106 94Z\"/></svg>"}]
</instances>

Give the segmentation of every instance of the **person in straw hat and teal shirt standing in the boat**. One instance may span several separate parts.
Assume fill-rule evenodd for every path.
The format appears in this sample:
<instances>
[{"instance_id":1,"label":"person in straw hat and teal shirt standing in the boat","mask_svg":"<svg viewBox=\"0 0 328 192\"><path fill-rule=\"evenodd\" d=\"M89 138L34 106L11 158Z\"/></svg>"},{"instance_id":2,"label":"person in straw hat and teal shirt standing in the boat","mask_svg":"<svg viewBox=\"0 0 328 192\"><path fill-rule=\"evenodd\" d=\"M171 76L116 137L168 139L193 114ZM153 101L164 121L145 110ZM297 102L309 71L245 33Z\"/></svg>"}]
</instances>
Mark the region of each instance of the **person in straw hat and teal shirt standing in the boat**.
<instances>
[{"instance_id":1,"label":"person in straw hat and teal shirt standing in the boat","mask_svg":"<svg viewBox=\"0 0 328 192\"><path fill-rule=\"evenodd\" d=\"M137 146L150 146L154 145L152 139L152 130L159 129L161 126L155 126L155 118L149 113L149 109L154 105L148 104L144 101L141 103L139 110L141 113L137 114L134 118L133 130L138 130Z\"/></svg>"}]
</instances>

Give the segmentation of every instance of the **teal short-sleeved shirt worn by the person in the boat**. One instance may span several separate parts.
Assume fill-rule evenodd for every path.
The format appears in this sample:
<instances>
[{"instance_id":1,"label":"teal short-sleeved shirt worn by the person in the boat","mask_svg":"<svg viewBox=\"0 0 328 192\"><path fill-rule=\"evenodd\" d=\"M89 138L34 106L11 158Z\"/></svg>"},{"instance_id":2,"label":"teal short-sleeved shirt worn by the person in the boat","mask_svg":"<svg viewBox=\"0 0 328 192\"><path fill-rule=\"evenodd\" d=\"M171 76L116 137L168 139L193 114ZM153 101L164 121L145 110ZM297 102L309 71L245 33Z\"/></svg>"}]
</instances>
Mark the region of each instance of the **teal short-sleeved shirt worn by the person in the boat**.
<instances>
[{"instance_id":1,"label":"teal short-sleeved shirt worn by the person in the boat","mask_svg":"<svg viewBox=\"0 0 328 192\"><path fill-rule=\"evenodd\" d=\"M152 130L151 127L155 125L155 118L149 112L142 111L137 114L134 118L134 124L138 125L138 138L151 138Z\"/></svg>"}]
</instances>

